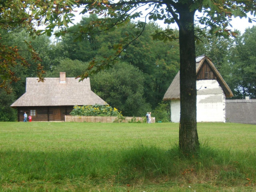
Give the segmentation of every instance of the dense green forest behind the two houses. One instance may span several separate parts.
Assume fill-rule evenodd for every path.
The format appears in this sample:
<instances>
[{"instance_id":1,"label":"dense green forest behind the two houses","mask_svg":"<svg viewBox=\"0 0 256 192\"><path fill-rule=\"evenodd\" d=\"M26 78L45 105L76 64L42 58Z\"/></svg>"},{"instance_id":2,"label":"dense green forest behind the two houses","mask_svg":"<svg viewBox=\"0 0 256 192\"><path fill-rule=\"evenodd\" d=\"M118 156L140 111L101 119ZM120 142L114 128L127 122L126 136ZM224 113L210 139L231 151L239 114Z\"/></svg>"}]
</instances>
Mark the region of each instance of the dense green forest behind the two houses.
<instances>
[{"instance_id":1,"label":"dense green forest behind the two houses","mask_svg":"<svg viewBox=\"0 0 256 192\"><path fill-rule=\"evenodd\" d=\"M67 77L77 77L93 58L114 55L112 45L136 33L136 27L130 31L130 26L134 25L132 22L96 35L87 33L78 36L74 33L96 17L93 14L83 17L80 23L68 28L65 36L55 41L45 35L32 40L22 28L0 31L0 43L13 47L17 45L20 55L31 65L13 69L21 79L10 85L10 94L0 89L0 121L16 120L16 111L9 106L24 94L26 77L37 75L37 65L27 51L26 42L31 42L42 59L45 77L59 77L61 71L66 72ZM147 111L153 111L153 116L169 120L169 103L162 102L162 98L179 70L179 45L178 40L165 43L153 40L152 34L159 28L152 22L147 24L142 36L121 53L112 68L90 76L92 91L122 111L123 116L144 116ZM174 33L178 35L178 30ZM247 28L243 34L237 31L237 38L225 39L207 31L205 33L205 36L199 37L201 42L196 46L197 56L207 55L212 59L230 86L233 99L245 96L256 98L256 26Z\"/></svg>"}]
</instances>

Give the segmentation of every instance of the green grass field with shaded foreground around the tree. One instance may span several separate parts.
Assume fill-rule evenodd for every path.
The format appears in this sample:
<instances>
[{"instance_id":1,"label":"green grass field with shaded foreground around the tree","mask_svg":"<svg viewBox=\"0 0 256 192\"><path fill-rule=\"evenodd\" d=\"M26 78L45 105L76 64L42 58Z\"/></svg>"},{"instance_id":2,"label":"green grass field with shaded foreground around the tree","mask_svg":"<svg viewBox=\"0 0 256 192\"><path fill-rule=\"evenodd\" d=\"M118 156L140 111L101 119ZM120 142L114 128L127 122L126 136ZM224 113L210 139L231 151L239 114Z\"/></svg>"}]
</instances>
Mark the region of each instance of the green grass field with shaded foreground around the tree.
<instances>
[{"instance_id":1,"label":"green grass field with shaded foreground around the tree","mask_svg":"<svg viewBox=\"0 0 256 192\"><path fill-rule=\"evenodd\" d=\"M256 125L0 122L0 191L255 192Z\"/></svg>"}]
</instances>

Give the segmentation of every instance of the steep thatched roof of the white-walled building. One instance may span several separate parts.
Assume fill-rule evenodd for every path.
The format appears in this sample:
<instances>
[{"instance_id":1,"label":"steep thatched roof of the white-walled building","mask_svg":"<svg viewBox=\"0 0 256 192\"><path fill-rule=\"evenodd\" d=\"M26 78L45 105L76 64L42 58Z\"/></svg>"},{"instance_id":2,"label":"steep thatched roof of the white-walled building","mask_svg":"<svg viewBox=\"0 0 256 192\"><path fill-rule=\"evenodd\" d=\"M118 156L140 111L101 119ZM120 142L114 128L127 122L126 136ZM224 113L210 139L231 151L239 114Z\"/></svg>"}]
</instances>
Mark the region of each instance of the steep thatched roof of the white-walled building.
<instances>
[{"instance_id":1,"label":"steep thatched roof of the white-walled building","mask_svg":"<svg viewBox=\"0 0 256 192\"><path fill-rule=\"evenodd\" d=\"M217 76L217 81L219 82L221 88L223 89L226 97L233 97L233 93L228 87L227 83L224 81L214 64L211 62L211 60L206 56L200 56L196 58L196 68L197 73L201 69L201 66L204 62L207 62L211 69L213 70L213 73ZM180 71L178 71L177 75L173 79L173 82L169 86L168 90L164 94L164 101L168 100L179 100L180 99Z\"/></svg>"}]
</instances>

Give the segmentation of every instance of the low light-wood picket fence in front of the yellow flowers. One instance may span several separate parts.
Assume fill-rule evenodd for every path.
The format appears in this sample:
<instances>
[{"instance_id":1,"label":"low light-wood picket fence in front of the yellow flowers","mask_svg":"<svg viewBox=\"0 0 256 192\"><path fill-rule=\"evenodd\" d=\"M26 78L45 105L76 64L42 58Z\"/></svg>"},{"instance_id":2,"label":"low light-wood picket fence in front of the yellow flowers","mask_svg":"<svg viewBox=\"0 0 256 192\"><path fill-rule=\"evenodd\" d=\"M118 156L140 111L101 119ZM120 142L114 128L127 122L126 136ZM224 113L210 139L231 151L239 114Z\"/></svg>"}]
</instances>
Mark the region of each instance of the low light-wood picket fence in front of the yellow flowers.
<instances>
[{"instance_id":1,"label":"low light-wood picket fence in front of the yellow flowers","mask_svg":"<svg viewBox=\"0 0 256 192\"><path fill-rule=\"evenodd\" d=\"M114 116L73 116L65 115L65 122L101 122L101 123L130 123L130 122L146 123L146 117L123 117L119 119ZM151 117L151 123L155 123L155 118Z\"/></svg>"}]
</instances>

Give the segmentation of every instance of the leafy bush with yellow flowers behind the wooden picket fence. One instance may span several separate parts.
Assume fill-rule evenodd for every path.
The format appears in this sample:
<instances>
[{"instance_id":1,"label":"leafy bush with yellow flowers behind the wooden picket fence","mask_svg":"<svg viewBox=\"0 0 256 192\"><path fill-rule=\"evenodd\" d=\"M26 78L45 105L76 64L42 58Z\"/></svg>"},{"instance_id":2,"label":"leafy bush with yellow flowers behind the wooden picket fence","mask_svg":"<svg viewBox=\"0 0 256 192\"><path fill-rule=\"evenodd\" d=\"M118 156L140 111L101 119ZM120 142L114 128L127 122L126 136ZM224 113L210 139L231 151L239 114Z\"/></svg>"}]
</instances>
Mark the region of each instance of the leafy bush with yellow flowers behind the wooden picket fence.
<instances>
[{"instance_id":1,"label":"leafy bush with yellow flowers behind the wooden picket fence","mask_svg":"<svg viewBox=\"0 0 256 192\"><path fill-rule=\"evenodd\" d=\"M71 111L71 115L78 115L78 116L119 116L121 117L122 111L118 111L114 107L114 109L109 105L83 105L77 106L75 105L73 110Z\"/></svg>"}]
</instances>

